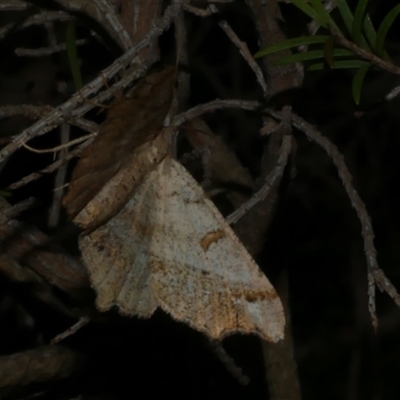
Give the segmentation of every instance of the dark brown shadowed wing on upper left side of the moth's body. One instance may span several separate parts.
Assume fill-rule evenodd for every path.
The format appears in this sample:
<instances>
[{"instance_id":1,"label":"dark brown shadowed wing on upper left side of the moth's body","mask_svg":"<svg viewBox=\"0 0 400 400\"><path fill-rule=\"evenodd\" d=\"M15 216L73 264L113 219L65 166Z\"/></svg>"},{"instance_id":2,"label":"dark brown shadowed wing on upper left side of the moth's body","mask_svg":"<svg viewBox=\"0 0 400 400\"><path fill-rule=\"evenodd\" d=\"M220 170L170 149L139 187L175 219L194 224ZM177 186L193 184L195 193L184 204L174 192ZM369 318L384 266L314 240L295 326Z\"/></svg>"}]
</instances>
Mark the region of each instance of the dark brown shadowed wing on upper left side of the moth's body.
<instances>
[{"instance_id":1,"label":"dark brown shadowed wing on upper left side of the moth's body","mask_svg":"<svg viewBox=\"0 0 400 400\"><path fill-rule=\"evenodd\" d=\"M131 163L132 155L140 146L156 137L171 105L175 83L175 67L166 66L146 76L136 86L131 97L119 99L111 106L98 136L87 147L75 167L63 206L70 217L75 217L104 188L115 175L121 174ZM161 160L159 160L161 161ZM158 162L159 162L158 161ZM138 171L139 172L139 171ZM136 182L139 182L136 174ZM143 174L142 174L143 175ZM99 213L86 229L101 225L114 215L135 189L121 183L113 188L118 201Z\"/></svg>"}]
</instances>

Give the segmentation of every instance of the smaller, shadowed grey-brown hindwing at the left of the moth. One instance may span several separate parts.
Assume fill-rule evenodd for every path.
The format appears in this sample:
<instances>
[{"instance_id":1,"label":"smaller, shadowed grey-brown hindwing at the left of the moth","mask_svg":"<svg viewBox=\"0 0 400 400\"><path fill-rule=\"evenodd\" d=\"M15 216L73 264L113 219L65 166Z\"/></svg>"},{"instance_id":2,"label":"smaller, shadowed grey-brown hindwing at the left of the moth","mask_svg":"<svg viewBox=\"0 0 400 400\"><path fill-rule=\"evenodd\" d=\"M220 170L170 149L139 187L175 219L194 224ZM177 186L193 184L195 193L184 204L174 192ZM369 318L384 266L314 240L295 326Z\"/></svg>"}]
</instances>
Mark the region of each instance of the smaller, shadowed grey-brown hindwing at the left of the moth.
<instances>
[{"instance_id":1,"label":"smaller, shadowed grey-brown hindwing at the left of the moth","mask_svg":"<svg viewBox=\"0 0 400 400\"><path fill-rule=\"evenodd\" d=\"M122 314L150 317L158 306L148 267L154 173L116 216L79 241L100 311L117 305Z\"/></svg>"}]
</instances>

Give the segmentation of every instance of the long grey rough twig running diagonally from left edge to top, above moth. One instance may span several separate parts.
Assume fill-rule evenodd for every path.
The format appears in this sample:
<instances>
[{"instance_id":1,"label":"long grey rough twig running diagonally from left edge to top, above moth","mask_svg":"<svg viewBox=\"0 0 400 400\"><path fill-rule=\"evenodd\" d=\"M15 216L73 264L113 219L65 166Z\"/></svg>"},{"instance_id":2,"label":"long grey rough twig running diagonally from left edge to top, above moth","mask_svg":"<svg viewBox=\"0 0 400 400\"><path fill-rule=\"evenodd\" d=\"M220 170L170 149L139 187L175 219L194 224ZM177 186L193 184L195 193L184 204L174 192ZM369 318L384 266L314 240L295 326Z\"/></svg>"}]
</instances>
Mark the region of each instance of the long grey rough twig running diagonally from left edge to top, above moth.
<instances>
[{"instance_id":1,"label":"long grey rough twig running diagonally from left edge to top, above moth","mask_svg":"<svg viewBox=\"0 0 400 400\"><path fill-rule=\"evenodd\" d=\"M167 29L173 18L179 13L181 5L174 3L169 6L164 15L158 20L149 31L149 33L138 44L130 48L126 53L114 61L106 68L102 76L107 79L113 78L121 72L126 65L138 54L140 50L148 46L155 38ZM84 86L79 92L75 93L69 100L50 112L45 118L25 129L21 134L15 136L13 141L0 151L0 162L13 154L20 146L33 137L44 135L51 131L66 119L66 115L71 112L80 102L82 98L88 98L92 93L97 92L103 86L103 78L98 76L92 82ZM93 107L93 106L92 106Z\"/></svg>"}]
</instances>

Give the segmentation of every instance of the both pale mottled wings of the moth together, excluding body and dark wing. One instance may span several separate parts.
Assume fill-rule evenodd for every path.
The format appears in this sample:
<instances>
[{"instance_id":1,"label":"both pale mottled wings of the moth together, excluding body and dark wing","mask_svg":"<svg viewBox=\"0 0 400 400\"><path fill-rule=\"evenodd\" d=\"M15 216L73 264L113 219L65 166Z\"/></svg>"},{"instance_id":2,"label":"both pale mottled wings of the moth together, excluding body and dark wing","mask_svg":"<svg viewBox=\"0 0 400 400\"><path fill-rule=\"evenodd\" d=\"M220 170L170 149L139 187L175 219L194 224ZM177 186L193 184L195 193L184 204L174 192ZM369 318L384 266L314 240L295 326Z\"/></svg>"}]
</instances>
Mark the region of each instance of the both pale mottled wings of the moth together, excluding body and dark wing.
<instances>
[{"instance_id":1,"label":"both pale mottled wings of the moth together, excluding body and dark wing","mask_svg":"<svg viewBox=\"0 0 400 400\"><path fill-rule=\"evenodd\" d=\"M80 246L100 310L117 305L148 317L161 307L215 339L234 332L283 337L274 288L198 183L169 157Z\"/></svg>"}]
</instances>

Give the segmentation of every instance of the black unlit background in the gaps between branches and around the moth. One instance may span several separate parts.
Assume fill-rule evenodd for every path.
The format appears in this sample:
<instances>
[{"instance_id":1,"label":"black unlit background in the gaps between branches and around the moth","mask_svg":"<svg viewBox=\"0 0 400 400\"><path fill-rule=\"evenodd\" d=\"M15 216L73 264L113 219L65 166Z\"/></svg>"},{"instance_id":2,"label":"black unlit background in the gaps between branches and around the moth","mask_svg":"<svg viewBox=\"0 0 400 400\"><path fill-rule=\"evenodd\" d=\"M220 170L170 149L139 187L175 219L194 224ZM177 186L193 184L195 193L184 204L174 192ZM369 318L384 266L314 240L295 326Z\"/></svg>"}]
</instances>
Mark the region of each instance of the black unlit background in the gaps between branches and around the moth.
<instances>
[{"instance_id":1,"label":"black unlit background in the gaps between branches and around the moth","mask_svg":"<svg viewBox=\"0 0 400 400\"><path fill-rule=\"evenodd\" d=\"M370 15L379 25L396 2L370 2ZM219 7L251 52L258 50L257 34L245 3ZM3 12L0 25L18 23L29 13ZM282 5L287 35L305 34L304 16ZM336 14L333 14L334 16ZM252 72L217 25L216 18L187 14L191 105L215 98L261 100ZM65 31L56 24L60 37ZM115 49L88 36L78 20L77 36L89 43L78 48L85 83L109 65ZM399 24L387 38L387 50L398 61ZM163 57L171 58L172 30L163 35ZM56 106L73 93L66 56L17 57L16 47L47 45L45 30L15 30L0 42L0 105ZM354 185L366 203L375 230L380 267L399 287L399 100L381 102L399 79L383 71L367 75L361 104L351 96L352 70L306 72L301 89L290 94L294 112L315 124L344 154ZM272 101L272 105L273 105ZM355 112L362 111L362 116ZM359 115L359 114L357 114ZM101 115L88 117L101 122ZM205 120L256 178L261 144L257 113L220 111ZM14 117L1 121L2 138L19 133L30 121ZM79 131L73 131L79 135ZM385 294L377 293L379 329L373 332L367 310L367 278L361 227L331 160L324 151L295 132L294 177L282 184L281 197L265 250L258 256L264 270L287 268L295 358L304 399L395 399L400 396L400 311ZM57 132L30 142L48 148ZM52 154L19 150L0 173L0 188L52 162ZM292 174L293 175L293 174ZM16 190L16 203L29 196L40 200L21 216L49 234L47 208L53 176ZM224 210L222 210L224 211ZM63 216L60 226L65 226ZM76 238L75 238L76 240ZM62 296L62 294L60 294ZM255 337L234 336L224 346L251 382L242 386L222 365L206 338L162 312L150 320L126 319L116 313L99 319L67 338L63 345L87 356L84 371L67 379L13 389L8 398L40 399L126 398L173 396L203 399L262 399L267 397L260 343ZM24 287L0 275L0 354L9 355L48 343L75 321L29 296ZM285 371L282 371L284 373ZM284 400L284 399L281 399Z\"/></svg>"}]
</instances>

